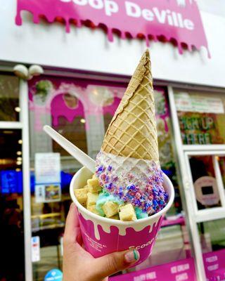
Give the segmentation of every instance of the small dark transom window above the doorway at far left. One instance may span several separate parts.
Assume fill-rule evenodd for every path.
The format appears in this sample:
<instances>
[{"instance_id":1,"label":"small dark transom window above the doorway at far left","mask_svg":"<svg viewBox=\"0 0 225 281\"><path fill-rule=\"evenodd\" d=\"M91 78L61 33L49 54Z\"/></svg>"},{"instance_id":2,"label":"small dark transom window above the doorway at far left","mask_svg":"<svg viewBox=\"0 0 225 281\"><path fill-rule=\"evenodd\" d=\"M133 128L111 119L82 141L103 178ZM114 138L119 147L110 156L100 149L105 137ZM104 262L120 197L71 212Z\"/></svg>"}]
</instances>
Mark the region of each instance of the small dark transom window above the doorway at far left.
<instances>
[{"instance_id":1,"label":"small dark transom window above the doorway at far left","mask_svg":"<svg viewBox=\"0 0 225 281\"><path fill-rule=\"evenodd\" d=\"M19 120L19 79L0 75L0 121Z\"/></svg>"}]
</instances>

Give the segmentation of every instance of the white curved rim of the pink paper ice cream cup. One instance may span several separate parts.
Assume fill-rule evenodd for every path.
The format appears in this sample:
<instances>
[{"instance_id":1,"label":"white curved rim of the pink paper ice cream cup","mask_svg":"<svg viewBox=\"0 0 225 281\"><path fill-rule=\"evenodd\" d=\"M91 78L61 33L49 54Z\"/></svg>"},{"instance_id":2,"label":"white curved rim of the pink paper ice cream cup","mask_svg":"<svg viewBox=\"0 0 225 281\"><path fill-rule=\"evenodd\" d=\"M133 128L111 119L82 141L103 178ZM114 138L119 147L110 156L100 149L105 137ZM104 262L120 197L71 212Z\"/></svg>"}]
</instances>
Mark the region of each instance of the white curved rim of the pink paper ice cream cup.
<instances>
[{"instance_id":1,"label":"white curved rim of the pink paper ice cream cup","mask_svg":"<svg viewBox=\"0 0 225 281\"><path fill-rule=\"evenodd\" d=\"M89 211L85 207L83 207L82 204L80 204L77 201L77 198L75 197L75 192L74 192L73 186L75 185L75 181L79 177L79 174L81 174L82 170L84 170L84 169L86 169L86 168L83 166L72 177L72 180L70 182L70 196L72 198L72 201L75 202L77 208L80 211L82 211L82 213L84 213L84 214L86 214L86 216L90 216L94 220L98 220L102 223L109 223L109 224L116 225L116 226L134 226L134 225L138 225L138 224L143 224L147 221L152 221L155 218L160 218L160 216L162 216L163 214L165 214L169 210L169 208L172 206L172 203L174 202L174 186L172 185L172 182L170 181L168 176L166 174L162 173L164 181L167 181L171 190L170 190L170 195L169 195L169 201L167 202L166 206L161 211L159 211L158 213L156 213L152 216L148 216L148 218L139 218L136 221L119 221L119 220L115 220L113 218L105 218L104 216L99 216L97 214L92 213L91 211Z\"/></svg>"}]
</instances>

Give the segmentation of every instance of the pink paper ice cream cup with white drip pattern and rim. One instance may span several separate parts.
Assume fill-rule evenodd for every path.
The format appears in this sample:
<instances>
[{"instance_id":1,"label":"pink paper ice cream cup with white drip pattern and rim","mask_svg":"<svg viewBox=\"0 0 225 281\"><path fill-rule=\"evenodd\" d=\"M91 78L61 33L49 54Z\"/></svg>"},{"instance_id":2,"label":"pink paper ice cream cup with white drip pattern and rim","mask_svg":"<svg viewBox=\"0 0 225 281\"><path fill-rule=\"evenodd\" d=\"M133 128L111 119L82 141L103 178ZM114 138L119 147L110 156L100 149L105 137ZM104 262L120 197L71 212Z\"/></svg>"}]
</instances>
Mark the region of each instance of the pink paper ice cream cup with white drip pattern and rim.
<instances>
[{"instance_id":1,"label":"pink paper ice cream cup with white drip pattern and rim","mask_svg":"<svg viewBox=\"0 0 225 281\"><path fill-rule=\"evenodd\" d=\"M119 221L91 213L77 201L74 190L86 185L86 181L91 176L91 171L83 167L77 171L70 183L70 196L77 206L84 247L95 258L113 251L123 251L135 247L140 254L139 261L134 265L136 266L151 254L162 219L174 201L172 182L163 174L163 186L169 194L169 200L164 209L148 218Z\"/></svg>"}]
</instances>

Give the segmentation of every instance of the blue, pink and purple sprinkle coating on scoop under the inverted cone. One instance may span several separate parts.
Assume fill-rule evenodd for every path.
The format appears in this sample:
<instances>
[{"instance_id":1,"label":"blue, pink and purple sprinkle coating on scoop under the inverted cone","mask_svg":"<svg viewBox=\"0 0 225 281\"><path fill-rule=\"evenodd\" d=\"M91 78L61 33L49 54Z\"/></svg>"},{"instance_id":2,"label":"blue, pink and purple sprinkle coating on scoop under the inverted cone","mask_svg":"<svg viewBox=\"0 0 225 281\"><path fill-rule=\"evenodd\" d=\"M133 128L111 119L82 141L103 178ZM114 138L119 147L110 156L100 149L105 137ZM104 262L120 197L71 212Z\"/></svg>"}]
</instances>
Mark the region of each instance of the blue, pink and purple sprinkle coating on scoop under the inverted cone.
<instances>
[{"instance_id":1,"label":"blue, pink and purple sprinkle coating on scoop under the inverted cone","mask_svg":"<svg viewBox=\"0 0 225 281\"><path fill-rule=\"evenodd\" d=\"M99 152L98 156L101 152ZM148 167L146 175L139 178L139 182L145 183L145 188L140 188L136 181L136 176L131 172L124 171L120 175L122 183L129 183L128 185L118 184L118 177L115 176L115 167L113 165L103 166L96 157L96 177L99 180L103 190L115 195L118 199L123 200L124 203L131 203L134 207L141 209L141 211L152 215L162 210L168 202L168 194L165 192L162 183L162 171L155 164Z\"/></svg>"}]
</instances>

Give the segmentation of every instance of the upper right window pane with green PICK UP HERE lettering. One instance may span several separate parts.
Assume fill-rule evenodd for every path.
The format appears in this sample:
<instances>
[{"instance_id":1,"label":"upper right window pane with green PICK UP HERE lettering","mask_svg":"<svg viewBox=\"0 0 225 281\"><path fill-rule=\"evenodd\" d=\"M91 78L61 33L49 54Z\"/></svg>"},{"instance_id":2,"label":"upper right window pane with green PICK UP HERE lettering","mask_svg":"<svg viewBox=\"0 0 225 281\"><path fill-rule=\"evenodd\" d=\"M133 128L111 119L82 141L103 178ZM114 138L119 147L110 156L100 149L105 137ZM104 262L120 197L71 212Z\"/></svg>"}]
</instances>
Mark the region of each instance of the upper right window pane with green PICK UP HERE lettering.
<instances>
[{"instance_id":1,"label":"upper right window pane with green PICK UP HERE lettering","mask_svg":"<svg viewBox=\"0 0 225 281\"><path fill-rule=\"evenodd\" d=\"M225 143L225 97L221 93L174 90L184 145Z\"/></svg>"}]
</instances>

